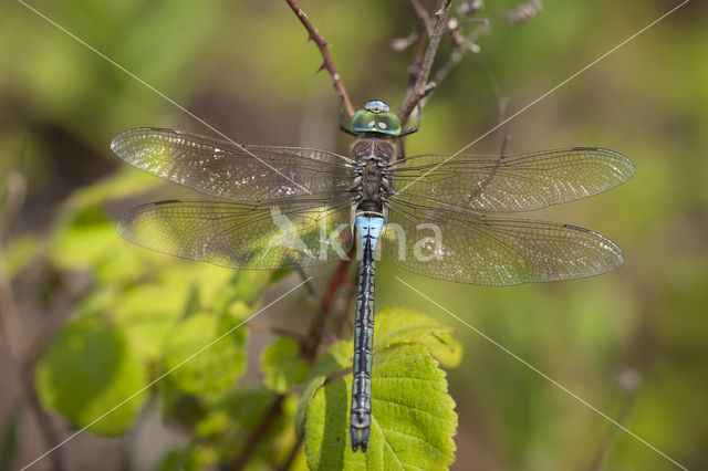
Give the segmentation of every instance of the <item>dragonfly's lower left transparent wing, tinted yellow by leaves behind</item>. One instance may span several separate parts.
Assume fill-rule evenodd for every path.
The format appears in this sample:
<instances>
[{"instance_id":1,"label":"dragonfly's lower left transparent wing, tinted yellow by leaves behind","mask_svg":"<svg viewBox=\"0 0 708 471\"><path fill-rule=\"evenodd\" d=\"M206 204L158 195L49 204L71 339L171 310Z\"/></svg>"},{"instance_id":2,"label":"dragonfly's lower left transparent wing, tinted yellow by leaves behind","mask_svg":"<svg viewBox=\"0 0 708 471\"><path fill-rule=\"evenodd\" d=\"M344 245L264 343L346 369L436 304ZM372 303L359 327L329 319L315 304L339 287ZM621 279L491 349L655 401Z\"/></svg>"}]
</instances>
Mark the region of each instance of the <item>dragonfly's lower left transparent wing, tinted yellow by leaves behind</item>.
<instances>
[{"instance_id":1,"label":"dragonfly's lower left transparent wing, tinted yellow by leaves behind","mask_svg":"<svg viewBox=\"0 0 708 471\"><path fill-rule=\"evenodd\" d=\"M352 247L348 201L252 205L159 201L118 221L125 239L158 252L235 269L314 266Z\"/></svg>"}]
</instances>

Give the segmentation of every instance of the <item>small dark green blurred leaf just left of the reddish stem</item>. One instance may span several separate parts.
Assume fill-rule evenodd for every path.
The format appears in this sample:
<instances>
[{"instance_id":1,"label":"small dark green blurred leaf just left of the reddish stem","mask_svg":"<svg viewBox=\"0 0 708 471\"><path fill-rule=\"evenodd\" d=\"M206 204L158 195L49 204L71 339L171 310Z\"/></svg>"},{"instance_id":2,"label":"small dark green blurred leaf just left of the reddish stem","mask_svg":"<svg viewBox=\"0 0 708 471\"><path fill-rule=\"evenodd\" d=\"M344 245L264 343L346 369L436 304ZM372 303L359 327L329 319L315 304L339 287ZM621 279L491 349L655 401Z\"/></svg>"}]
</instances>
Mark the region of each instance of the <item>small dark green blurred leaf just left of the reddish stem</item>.
<instances>
[{"instance_id":1,"label":"small dark green blurred leaf just left of the reddish stem","mask_svg":"<svg viewBox=\"0 0 708 471\"><path fill-rule=\"evenodd\" d=\"M294 338L282 337L261 354L261 371L266 387L275 393L287 393L308 377L309 365L300 356L300 344Z\"/></svg>"}]
</instances>

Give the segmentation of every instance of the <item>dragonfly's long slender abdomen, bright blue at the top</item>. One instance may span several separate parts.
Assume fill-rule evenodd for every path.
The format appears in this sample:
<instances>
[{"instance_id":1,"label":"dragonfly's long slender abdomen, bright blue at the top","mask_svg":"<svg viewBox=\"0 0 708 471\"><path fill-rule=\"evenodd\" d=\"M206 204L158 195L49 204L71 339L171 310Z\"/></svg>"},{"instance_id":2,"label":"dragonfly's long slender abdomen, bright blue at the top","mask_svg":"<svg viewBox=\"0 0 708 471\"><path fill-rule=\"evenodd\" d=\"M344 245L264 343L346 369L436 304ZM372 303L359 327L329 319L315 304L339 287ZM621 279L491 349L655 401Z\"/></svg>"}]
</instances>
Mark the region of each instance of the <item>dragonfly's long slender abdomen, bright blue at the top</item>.
<instances>
[{"instance_id":1,"label":"dragonfly's long slender abdomen, bright blue at the top","mask_svg":"<svg viewBox=\"0 0 708 471\"><path fill-rule=\"evenodd\" d=\"M356 231L362 239L363 257L358 271L356 318L354 320L354 362L350 438L352 450L366 451L372 416L372 358L374 347L374 250L384 227L378 212L356 216Z\"/></svg>"}]
</instances>

